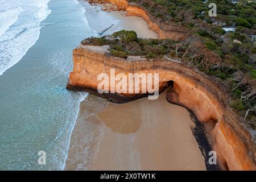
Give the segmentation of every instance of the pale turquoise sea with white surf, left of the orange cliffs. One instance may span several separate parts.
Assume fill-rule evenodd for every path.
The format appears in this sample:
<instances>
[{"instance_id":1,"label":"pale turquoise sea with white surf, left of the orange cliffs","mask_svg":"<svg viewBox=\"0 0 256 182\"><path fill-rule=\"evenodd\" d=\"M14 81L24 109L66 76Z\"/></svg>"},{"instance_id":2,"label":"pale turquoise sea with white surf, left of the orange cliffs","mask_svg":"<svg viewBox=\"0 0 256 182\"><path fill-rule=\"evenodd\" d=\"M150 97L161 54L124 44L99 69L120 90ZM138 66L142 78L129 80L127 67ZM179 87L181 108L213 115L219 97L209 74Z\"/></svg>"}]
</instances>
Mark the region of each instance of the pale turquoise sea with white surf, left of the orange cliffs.
<instances>
[{"instance_id":1,"label":"pale turquoise sea with white surf, left of the orange cliffs","mask_svg":"<svg viewBox=\"0 0 256 182\"><path fill-rule=\"evenodd\" d=\"M86 97L65 89L72 50L97 35L84 11L75 0L0 1L1 170L64 168Z\"/></svg>"}]
</instances>

